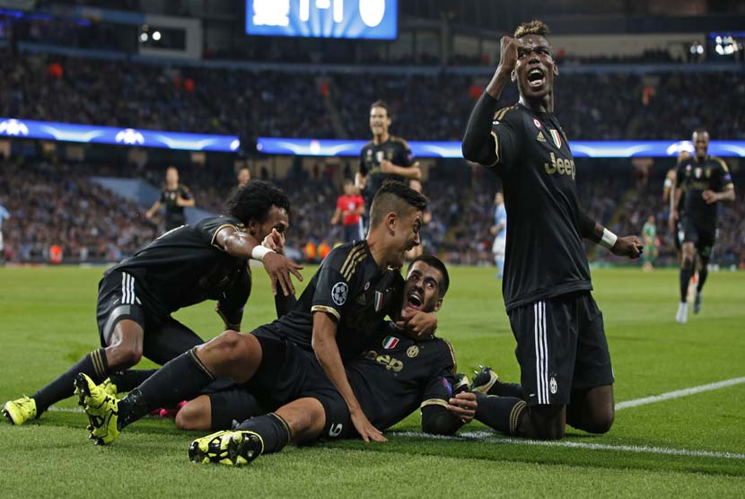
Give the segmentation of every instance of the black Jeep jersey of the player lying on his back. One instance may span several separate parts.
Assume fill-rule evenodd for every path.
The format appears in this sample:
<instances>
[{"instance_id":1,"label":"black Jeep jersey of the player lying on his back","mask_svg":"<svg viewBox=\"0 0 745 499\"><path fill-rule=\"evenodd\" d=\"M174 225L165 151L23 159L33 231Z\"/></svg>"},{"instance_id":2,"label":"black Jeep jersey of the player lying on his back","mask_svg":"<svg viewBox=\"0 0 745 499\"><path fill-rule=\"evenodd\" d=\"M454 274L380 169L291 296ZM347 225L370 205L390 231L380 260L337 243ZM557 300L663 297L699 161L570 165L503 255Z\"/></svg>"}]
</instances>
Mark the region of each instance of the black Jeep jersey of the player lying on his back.
<instances>
[{"instance_id":1,"label":"black Jeep jersey of the player lying on his back","mask_svg":"<svg viewBox=\"0 0 745 499\"><path fill-rule=\"evenodd\" d=\"M452 346L442 338L415 342L389 324L360 359L346 365L346 377L364 415L388 428L418 407L445 406L456 372Z\"/></svg>"}]
</instances>

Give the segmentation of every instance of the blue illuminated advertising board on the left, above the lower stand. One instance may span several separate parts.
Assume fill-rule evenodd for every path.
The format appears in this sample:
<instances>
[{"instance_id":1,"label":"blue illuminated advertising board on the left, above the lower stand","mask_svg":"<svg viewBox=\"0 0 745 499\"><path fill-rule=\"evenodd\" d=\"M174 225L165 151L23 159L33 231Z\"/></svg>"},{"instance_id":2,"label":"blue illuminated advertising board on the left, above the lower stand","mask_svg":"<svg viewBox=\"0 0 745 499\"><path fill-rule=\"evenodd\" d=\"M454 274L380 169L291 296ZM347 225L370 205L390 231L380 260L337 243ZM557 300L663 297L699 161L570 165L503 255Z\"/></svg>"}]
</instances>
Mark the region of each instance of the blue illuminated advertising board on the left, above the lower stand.
<instances>
[{"instance_id":1,"label":"blue illuminated advertising board on the left, above the lower stand","mask_svg":"<svg viewBox=\"0 0 745 499\"><path fill-rule=\"evenodd\" d=\"M186 134L164 132L162 130L145 130L142 128L74 125L72 123L14 118L0 118L0 136L223 153L234 153L241 147L241 141L237 136Z\"/></svg>"}]
</instances>

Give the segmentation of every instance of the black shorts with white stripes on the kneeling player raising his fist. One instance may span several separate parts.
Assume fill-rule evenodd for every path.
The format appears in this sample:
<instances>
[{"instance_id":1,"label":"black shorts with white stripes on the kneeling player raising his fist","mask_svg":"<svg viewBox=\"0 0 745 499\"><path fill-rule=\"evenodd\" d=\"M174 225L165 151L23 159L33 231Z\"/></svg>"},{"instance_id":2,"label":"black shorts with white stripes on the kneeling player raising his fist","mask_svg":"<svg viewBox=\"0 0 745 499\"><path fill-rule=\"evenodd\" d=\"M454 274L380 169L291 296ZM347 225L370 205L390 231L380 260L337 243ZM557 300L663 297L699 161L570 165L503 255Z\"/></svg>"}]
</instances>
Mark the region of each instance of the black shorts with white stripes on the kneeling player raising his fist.
<instances>
[{"instance_id":1,"label":"black shorts with white stripes on the kneeling player raising his fist","mask_svg":"<svg viewBox=\"0 0 745 499\"><path fill-rule=\"evenodd\" d=\"M602 313L590 292L509 312L528 404L568 405L572 390L613 383Z\"/></svg>"}]
</instances>

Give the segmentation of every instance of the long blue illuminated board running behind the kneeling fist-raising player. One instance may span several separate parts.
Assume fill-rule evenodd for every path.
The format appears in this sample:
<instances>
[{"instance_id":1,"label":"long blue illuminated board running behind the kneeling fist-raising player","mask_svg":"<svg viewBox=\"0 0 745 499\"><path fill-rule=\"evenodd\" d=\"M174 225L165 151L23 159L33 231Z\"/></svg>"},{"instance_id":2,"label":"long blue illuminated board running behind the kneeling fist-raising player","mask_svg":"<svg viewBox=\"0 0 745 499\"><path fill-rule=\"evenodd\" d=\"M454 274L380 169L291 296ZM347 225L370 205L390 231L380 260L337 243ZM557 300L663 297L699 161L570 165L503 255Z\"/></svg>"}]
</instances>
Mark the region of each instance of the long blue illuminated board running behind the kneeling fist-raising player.
<instances>
[{"instance_id":1,"label":"long blue illuminated board running behind the kneeling fist-raising player","mask_svg":"<svg viewBox=\"0 0 745 499\"><path fill-rule=\"evenodd\" d=\"M259 137L256 148L261 153L299 156L357 156L367 141L319 140ZM408 141L411 152L419 158L462 158L460 142ZM575 158L662 158L680 151L693 151L690 141L581 141L570 143ZM745 157L745 141L713 140L709 153L715 156Z\"/></svg>"}]
</instances>

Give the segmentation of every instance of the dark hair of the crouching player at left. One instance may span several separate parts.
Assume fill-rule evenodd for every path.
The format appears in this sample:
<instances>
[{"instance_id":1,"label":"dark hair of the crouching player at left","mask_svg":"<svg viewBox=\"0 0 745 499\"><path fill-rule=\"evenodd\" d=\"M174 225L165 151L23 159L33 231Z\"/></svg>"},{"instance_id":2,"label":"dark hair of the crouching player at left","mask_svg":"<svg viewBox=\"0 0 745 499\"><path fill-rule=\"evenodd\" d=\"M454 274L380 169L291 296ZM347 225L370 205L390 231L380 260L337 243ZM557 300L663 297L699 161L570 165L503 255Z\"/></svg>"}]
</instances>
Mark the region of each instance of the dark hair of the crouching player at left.
<instances>
[{"instance_id":1,"label":"dark hair of the crouching player at left","mask_svg":"<svg viewBox=\"0 0 745 499\"><path fill-rule=\"evenodd\" d=\"M285 208L287 216L290 215L290 200L282 189L266 180L250 179L225 201L225 212L242 223L251 220L264 223L272 206Z\"/></svg>"}]
</instances>

